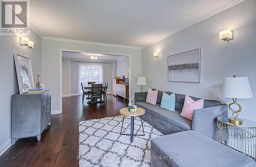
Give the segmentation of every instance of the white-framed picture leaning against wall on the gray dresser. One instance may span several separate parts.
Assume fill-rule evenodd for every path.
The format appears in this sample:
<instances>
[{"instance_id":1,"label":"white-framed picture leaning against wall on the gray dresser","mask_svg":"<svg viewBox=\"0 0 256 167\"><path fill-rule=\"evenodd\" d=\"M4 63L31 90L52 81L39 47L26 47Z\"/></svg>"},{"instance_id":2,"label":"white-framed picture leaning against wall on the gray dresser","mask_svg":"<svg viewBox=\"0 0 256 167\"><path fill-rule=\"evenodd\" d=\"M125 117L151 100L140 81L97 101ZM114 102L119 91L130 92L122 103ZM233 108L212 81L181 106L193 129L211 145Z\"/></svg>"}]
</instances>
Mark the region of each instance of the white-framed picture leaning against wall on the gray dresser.
<instances>
[{"instance_id":1,"label":"white-framed picture leaning against wall on the gray dresser","mask_svg":"<svg viewBox=\"0 0 256 167\"><path fill-rule=\"evenodd\" d=\"M19 94L24 94L27 93L30 89L35 88L31 60L17 53L14 53L13 56L17 74Z\"/></svg>"}]
</instances>

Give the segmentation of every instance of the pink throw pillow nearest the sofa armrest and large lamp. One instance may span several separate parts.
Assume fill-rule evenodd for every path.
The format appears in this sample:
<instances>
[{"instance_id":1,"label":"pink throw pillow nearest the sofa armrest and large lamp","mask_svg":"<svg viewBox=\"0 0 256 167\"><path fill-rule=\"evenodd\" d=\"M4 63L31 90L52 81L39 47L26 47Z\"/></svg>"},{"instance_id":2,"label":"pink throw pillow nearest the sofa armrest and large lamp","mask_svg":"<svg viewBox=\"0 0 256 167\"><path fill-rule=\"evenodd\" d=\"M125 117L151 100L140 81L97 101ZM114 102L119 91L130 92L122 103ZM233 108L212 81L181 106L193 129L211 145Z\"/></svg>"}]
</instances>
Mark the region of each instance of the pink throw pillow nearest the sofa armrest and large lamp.
<instances>
[{"instance_id":1,"label":"pink throw pillow nearest the sofa armrest and large lamp","mask_svg":"<svg viewBox=\"0 0 256 167\"><path fill-rule=\"evenodd\" d=\"M194 109L201 109L204 107L204 99L194 101L189 96L186 95L184 105L182 108L181 116L189 120L193 120Z\"/></svg>"}]
</instances>

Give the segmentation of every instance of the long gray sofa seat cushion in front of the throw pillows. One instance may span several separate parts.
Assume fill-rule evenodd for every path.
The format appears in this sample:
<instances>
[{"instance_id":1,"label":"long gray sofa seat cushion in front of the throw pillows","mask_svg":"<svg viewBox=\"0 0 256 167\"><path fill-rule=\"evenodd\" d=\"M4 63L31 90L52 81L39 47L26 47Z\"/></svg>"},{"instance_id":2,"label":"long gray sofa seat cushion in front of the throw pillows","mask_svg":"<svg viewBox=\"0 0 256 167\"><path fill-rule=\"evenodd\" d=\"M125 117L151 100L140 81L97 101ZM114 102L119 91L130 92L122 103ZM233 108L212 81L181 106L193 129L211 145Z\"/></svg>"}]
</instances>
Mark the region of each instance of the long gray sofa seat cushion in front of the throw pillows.
<instances>
[{"instance_id":1,"label":"long gray sofa seat cushion in front of the throw pillows","mask_svg":"<svg viewBox=\"0 0 256 167\"><path fill-rule=\"evenodd\" d=\"M147 102L135 103L138 107L142 107L147 113L150 113L163 121L166 121L174 126L177 126L183 130L191 130L192 121L180 116L180 111L170 112L167 109L161 108L159 104L153 105Z\"/></svg>"}]
</instances>

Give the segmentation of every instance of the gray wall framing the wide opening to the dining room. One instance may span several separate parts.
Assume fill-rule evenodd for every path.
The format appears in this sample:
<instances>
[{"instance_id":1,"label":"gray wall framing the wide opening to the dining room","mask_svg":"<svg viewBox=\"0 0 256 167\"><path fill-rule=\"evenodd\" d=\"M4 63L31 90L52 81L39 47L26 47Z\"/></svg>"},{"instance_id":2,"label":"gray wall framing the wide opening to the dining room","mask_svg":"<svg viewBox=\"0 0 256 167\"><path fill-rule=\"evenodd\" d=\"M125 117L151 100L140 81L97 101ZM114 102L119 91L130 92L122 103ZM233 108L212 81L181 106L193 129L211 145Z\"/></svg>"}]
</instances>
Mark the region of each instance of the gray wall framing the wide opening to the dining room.
<instances>
[{"instance_id":1,"label":"gray wall framing the wide opening to the dining room","mask_svg":"<svg viewBox=\"0 0 256 167\"><path fill-rule=\"evenodd\" d=\"M61 51L97 52L131 55L131 92L138 91L137 77L141 75L141 49L120 45L92 44L90 42L43 38L42 40L42 82L52 90L52 111L62 112ZM51 60L51 61L49 61ZM71 77L72 79L72 77ZM71 85L72 87L72 85Z\"/></svg>"}]
</instances>

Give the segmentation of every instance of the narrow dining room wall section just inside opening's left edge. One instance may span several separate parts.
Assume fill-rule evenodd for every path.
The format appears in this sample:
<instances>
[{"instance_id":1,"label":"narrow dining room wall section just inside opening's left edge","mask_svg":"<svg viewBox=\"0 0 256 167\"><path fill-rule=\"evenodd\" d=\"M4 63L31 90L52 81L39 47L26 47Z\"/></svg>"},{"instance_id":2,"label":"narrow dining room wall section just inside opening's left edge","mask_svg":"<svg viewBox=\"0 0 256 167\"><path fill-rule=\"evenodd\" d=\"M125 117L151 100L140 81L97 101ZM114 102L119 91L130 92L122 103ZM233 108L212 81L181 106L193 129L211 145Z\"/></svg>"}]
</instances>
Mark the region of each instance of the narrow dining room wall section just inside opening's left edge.
<instances>
[{"instance_id":1,"label":"narrow dining room wall section just inside opening's left edge","mask_svg":"<svg viewBox=\"0 0 256 167\"><path fill-rule=\"evenodd\" d=\"M62 59L62 95L70 95L71 90L71 60Z\"/></svg>"}]
</instances>

